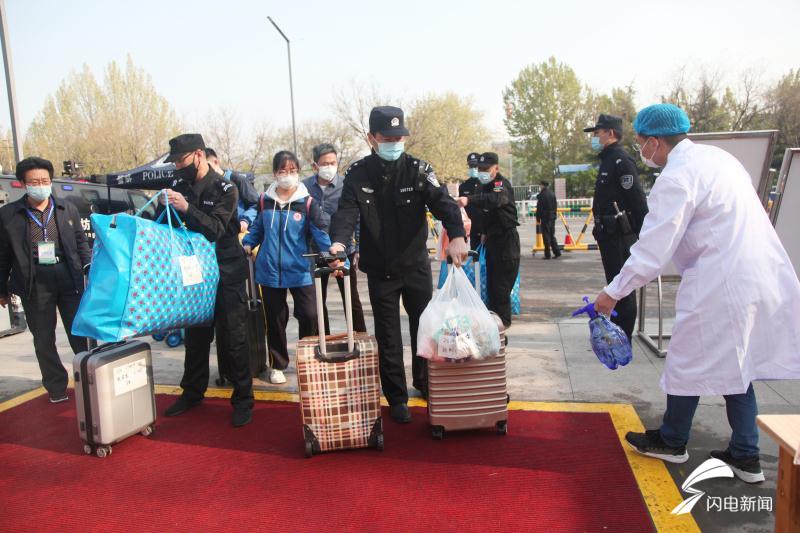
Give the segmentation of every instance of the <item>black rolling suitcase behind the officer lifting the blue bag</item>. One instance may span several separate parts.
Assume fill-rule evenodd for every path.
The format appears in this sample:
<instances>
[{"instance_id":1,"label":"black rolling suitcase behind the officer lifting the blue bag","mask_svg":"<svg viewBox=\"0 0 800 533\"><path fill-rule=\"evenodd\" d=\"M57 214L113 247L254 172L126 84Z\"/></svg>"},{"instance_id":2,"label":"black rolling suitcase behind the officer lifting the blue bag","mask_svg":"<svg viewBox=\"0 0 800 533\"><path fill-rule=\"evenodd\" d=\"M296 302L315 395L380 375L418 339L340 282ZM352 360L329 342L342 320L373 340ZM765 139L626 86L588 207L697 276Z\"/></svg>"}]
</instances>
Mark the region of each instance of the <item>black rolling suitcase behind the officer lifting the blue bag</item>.
<instances>
[{"instance_id":1,"label":"black rolling suitcase behind the officer lifting the blue bag","mask_svg":"<svg viewBox=\"0 0 800 533\"><path fill-rule=\"evenodd\" d=\"M253 271L253 259L248 258L247 264L250 267L250 277L247 281L247 350L250 353L250 372L253 377L260 376L267 370L267 327L264 319L264 307L261 304L261 291L256 284L256 276ZM229 382L227 370L227 357L220 349L221 339L227 336L228 332L222 328L216 328L217 335L217 368L219 377L215 383L219 386Z\"/></svg>"}]
</instances>

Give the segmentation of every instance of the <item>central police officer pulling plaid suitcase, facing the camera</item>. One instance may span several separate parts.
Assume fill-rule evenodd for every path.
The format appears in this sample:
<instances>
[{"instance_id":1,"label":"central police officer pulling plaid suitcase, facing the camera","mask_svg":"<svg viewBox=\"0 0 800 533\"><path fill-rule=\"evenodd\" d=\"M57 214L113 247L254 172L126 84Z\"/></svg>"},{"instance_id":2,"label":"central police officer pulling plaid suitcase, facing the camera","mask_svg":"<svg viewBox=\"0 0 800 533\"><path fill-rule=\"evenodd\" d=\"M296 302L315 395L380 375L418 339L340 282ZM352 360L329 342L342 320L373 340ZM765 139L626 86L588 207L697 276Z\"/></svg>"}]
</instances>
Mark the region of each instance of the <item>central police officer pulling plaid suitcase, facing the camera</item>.
<instances>
[{"instance_id":1,"label":"central police officer pulling plaid suitcase, facing the camera","mask_svg":"<svg viewBox=\"0 0 800 533\"><path fill-rule=\"evenodd\" d=\"M413 384L423 396L428 389L426 361L417 356L419 317L433 293L426 207L450 235L448 254L454 263L461 264L467 254L458 205L427 162L405 153L408 135L400 108L372 109L367 142L373 153L345 173L329 232L331 252L343 251L361 218L358 268L367 274L383 393L392 419L400 423L411 421L400 332L401 297L411 332Z\"/></svg>"}]
</instances>

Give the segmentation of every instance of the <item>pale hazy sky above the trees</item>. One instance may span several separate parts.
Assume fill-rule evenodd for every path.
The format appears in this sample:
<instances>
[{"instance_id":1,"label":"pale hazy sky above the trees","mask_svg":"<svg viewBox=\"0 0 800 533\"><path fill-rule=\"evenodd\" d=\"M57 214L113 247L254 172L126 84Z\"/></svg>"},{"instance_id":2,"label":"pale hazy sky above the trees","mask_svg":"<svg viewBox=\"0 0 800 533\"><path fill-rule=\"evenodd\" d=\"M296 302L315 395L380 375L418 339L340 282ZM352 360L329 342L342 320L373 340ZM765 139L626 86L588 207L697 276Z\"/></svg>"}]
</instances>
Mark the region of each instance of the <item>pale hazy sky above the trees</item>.
<instances>
[{"instance_id":1,"label":"pale hazy sky above the trees","mask_svg":"<svg viewBox=\"0 0 800 533\"><path fill-rule=\"evenodd\" d=\"M800 67L797 0L251 1L6 0L20 121L88 64L98 77L130 54L192 124L223 106L246 130L291 124L292 39L298 122L332 116L351 80L405 100L454 91L474 99L500 140L502 91L554 55L599 91L633 82L639 106L682 65L772 82ZM735 81L735 80L734 80ZM9 124L5 84L0 126Z\"/></svg>"}]
</instances>

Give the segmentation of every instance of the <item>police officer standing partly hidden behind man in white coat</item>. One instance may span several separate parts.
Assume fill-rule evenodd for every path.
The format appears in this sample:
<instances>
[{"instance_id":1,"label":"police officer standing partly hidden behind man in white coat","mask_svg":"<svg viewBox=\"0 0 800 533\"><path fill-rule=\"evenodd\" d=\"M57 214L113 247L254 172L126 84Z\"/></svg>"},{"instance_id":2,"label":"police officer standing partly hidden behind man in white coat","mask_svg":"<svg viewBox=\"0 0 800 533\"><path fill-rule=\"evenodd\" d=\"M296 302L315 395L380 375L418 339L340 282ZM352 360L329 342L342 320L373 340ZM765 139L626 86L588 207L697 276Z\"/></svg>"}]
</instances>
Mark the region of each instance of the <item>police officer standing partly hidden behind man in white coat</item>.
<instances>
[{"instance_id":1,"label":"police officer standing partly hidden behind man in white coat","mask_svg":"<svg viewBox=\"0 0 800 533\"><path fill-rule=\"evenodd\" d=\"M622 269L630 256L631 246L638 239L647 214L647 197L633 158L620 144L622 119L601 114L593 127L583 131L592 133L592 148L600 151L600 169L592 204L592 234L600 248L606 281L610 283ZM611 320L630 339L636 323L636 293L620 300L615 309L617 316Z\"/></svg>"}]
</instances>

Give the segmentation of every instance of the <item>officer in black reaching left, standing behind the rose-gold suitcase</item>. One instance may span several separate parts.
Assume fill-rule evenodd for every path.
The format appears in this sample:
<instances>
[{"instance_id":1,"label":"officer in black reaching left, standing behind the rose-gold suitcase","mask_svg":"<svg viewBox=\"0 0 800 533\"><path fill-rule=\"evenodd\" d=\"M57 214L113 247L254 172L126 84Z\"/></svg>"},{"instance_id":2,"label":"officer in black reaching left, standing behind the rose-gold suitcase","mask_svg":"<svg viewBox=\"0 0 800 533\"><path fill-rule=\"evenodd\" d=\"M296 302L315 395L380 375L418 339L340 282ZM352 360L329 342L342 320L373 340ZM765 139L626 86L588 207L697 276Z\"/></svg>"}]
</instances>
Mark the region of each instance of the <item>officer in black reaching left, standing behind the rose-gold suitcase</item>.
<instances>
[{"instance_id":1,"label":"officer in black reaching left, standing behind the rose-gold suitcase","mask_svg":"<svg viewBox=\"0 0 800 533\"><path fill-rule=\"evenodd\" d=\"M460 196L462 207L483 210L483 230L486 234L486 279L489 292L489 310L511 325L511 289L519 273L519 233L517 233L517 205L514 188L500 174L499 158L494 152L485 152L478 158L480 192Z\"/></svg>"}]
</instances>

